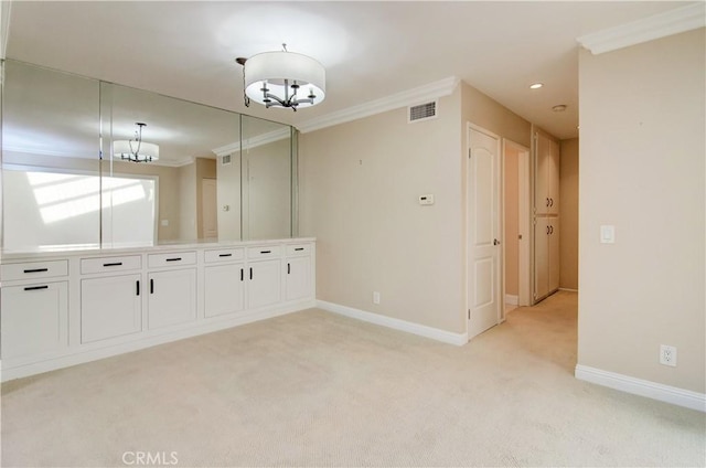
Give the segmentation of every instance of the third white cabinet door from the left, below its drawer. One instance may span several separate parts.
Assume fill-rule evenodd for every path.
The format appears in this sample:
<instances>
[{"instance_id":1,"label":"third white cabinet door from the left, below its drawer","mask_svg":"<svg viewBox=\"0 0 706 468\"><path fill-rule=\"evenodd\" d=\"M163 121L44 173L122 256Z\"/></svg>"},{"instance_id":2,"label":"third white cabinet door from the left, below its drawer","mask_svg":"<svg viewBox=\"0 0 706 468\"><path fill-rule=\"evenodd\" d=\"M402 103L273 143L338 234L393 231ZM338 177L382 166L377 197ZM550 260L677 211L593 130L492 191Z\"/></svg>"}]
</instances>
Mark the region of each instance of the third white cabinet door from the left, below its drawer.
<instances>
[{"instance_id":1,"label":"third white cabinet door from the left, below its drawer","mask_svg":"<svg viewBox=\"0 0 706 468\"><path fill-rule=\"evenodd\" d=\"M196 270L149 274L148 328L170 327L196 319Z\"/></svg>"}]
</instances>

